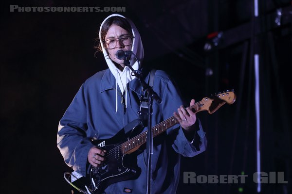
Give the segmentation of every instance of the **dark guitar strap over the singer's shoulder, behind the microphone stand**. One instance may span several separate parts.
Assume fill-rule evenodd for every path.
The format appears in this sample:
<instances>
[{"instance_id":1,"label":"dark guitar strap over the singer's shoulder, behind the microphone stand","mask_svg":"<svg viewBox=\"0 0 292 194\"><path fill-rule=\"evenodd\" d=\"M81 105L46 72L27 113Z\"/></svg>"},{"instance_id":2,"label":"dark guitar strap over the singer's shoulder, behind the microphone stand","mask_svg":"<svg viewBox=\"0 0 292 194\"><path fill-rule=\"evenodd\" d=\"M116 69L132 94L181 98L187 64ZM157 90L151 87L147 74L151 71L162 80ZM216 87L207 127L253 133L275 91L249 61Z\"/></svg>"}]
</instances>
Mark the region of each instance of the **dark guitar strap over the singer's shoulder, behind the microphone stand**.
<instances>
[{"instance_id":1,"label":"dark guitar strap over the singer's shoulder, behind the microphone stand","mask_svg":"<svg viewBox=\"0 0 292 194\"><path fill-rule=\"evenodd\" d=\"M154 75L156 69L150 71L148 85L153 88ZM145 91L144 95L140 97L140 110L138 112L139 118L143 121L144 126L146 127L148 122L148 93Z\"/></svg>"}]
</instances>

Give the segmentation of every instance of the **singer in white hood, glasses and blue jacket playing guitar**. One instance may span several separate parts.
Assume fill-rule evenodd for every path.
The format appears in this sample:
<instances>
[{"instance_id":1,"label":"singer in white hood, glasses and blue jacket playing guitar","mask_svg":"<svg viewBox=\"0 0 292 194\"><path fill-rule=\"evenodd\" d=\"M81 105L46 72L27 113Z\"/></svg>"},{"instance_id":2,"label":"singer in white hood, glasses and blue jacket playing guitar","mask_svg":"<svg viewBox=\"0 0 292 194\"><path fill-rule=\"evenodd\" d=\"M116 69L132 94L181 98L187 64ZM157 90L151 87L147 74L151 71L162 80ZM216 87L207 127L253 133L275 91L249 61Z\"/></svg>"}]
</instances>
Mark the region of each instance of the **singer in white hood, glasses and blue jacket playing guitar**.
<instances>
[{"instance_id":1,"label":"singer in white hood, glasses and blue jacket playing guitar","mask_svg":"<svg viewBox=\"0 0 292 194\"><path fill-rule=\"evenodd\" d=\"M118 50L130 50L137 60L130 65L141 69L144 49L140 34L131 20L113 14L100 26L100 45L108 69L97 72L80 87L72 103L59 122L57 147L65 162L82 176L92 166L105 162L106 151L92 144L92 140L109 139L139 116L140 95L144 94L141 83L131 75L124 60L116 57ZM145 80L149 79L146 74ZM153 102L152 126L175 115L179 124L154 138L152 156L152 193L173 194L180 176L180 157L193 157L206 148L205 132L196 114L182 106L179 91L168 75L157 70L153 90L162 99ZM190 105L195 100L192 99ZM146 131L147 128L144 129ZM133 180L111 184L105 193L145 194L147 185L146 149L137 155L141 174Z\"/></svg>"}]
</instances>

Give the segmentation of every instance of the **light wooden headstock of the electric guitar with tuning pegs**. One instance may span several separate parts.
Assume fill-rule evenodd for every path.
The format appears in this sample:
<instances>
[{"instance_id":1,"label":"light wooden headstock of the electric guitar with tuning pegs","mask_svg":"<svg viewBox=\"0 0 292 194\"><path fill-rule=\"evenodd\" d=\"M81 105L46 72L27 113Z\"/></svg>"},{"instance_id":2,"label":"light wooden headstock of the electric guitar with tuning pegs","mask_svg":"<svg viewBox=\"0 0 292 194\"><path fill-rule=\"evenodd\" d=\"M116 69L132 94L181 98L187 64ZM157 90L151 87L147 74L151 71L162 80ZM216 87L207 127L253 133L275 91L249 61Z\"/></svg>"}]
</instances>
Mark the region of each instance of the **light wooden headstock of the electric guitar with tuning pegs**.
<instances>
[{"instance_id":1,"label":"light wooden headstock of the electric guitar with tuning pegs","mask_svg":"<svg viewBox=\"0 0 292 194\"><path fill-rule=\"evenodd\" d=\"M197 102L191 108L194 108L196 112L208 111L208 113L215 113L225 103L233 104L236 100L236 94L234 90L223 93L215 94L211 97L204 97L200 102Z\"/></svg>"}]
</instances>

